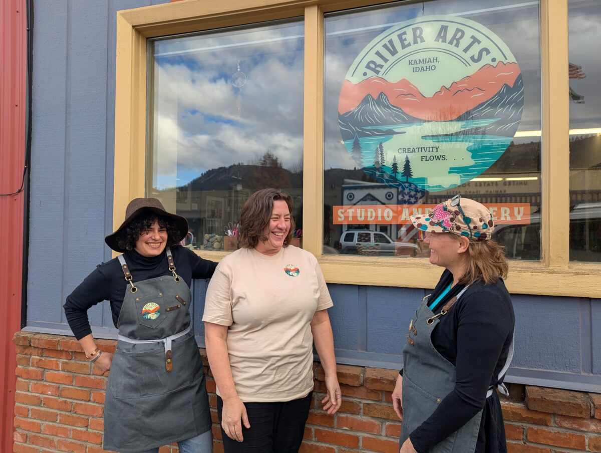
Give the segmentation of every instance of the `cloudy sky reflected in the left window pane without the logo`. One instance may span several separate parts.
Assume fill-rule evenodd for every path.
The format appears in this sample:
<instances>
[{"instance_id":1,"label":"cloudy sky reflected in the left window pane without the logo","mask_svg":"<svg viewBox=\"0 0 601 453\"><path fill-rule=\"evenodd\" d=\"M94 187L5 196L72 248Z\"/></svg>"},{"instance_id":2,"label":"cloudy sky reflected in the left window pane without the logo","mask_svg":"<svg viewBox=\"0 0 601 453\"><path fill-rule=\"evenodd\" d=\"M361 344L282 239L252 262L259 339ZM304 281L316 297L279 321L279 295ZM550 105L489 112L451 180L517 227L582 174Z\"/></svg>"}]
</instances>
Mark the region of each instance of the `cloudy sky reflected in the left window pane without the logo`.
<instances>
[{"instance_id":1,"label":"cloudy sky reflected in the left window pane without the logo","mask_svg":"<svg viewBox=\"0 0 601 453\"><path fill-rule=\"evenodd\" d=\"M267 150L285 168L301 161L301 21L159 40L153 51L155 188L185 185ZM232 82L238 66L241 88Z\"/></svg>"}]
</instances>

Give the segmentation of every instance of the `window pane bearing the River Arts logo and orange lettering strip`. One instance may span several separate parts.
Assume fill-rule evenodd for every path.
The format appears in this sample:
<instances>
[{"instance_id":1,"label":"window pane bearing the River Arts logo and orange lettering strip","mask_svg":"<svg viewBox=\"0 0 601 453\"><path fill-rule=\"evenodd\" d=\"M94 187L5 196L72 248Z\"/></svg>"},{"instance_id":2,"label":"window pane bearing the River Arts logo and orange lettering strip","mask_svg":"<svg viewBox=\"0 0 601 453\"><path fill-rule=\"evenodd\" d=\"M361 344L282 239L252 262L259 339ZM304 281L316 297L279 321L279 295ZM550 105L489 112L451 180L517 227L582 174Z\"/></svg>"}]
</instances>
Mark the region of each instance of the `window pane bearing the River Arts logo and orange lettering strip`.
<instances>
[{"instance_id":1,"label":"window pane bearing the River Arts logo and orange lettering strip","mask_svg":"<svg viewBox=\"0 0 601 453\"><path fill-rule=\"evenodd\" d=\"M324 253L346 230L424 257L409 215L460 193L513 259L539 260L537 1L437 0L326 14ZM527 250L527 252L526 252Z\"/></svg>"}]
</instances>

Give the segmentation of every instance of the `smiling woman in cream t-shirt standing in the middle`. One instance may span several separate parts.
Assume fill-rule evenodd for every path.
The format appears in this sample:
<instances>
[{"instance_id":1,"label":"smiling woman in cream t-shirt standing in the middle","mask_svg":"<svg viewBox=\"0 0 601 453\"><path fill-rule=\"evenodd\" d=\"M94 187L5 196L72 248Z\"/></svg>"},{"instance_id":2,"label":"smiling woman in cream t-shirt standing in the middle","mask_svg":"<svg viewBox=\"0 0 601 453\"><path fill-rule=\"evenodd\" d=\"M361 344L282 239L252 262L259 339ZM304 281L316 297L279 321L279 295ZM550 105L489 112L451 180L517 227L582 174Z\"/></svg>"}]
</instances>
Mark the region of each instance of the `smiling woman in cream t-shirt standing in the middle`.
<instances>
[{"instance_id":1,"label":"smiling woman in cream t-shirt standing in the middle","mask_svg":"<svg viewBox=\"0 0 601 453\"><path fill-rule=\"evenodd\" d=\"M316 258L288 245L292 199L273 189L242 208L240 250L219 263L203 321L224 451L297 452L313 392L313 344L326 373L323 409L341 404L328 309Z\"/></svg>"}]
</instances>

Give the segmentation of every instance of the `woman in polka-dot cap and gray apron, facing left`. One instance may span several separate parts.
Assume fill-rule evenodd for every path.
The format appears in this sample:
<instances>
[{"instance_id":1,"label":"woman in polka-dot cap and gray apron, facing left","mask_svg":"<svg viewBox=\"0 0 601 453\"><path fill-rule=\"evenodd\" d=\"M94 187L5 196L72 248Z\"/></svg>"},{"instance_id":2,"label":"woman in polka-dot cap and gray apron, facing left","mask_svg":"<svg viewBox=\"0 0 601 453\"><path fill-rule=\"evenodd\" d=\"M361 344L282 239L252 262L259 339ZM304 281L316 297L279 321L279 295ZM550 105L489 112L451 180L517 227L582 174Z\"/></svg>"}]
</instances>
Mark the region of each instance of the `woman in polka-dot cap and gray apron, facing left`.
<instances>
[{"instance_id":1,"label":"woman in polka-dot cap and gray apron, facing left","mask_svg":"<svg viewBox=\"0 0 601 453\"><path fill-rule=\"evenodd\" d=\"M411 217L445 270L410 320L392 393L401 453L507 452L498 392L513 356L507 258L490 212L459 195Z\"/></svg>"}]
</instances>

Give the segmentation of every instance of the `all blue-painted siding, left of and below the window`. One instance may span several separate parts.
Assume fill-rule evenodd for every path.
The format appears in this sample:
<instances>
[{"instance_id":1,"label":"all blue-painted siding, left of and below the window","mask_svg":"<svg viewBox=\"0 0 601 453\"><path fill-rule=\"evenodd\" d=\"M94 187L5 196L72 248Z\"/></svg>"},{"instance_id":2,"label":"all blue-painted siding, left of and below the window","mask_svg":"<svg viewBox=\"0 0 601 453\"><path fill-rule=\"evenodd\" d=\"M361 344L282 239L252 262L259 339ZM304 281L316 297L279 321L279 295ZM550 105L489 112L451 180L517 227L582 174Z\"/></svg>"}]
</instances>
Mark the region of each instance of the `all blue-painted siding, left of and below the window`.
<instances>
[{"instance_id":1,"label":"all blue-painted siding, left of and below the window","mask_svg":"<svg viewBox=\"0 0 601 453\"><path fill-rule=\"evenodd\" d=\"M62 305L111 259L115 17L166 0L34 4L28 330L69 334ZM341 363L399 368L407 324L423 289L328 285ZM203 343L204 294L192 310ZM514 295L516 355L510 380L601 392L601 299ZM90 310L94 334L115 337L109 304ZM584 387L583 387L584 388Z\"/></svg>"}]
</instances>

